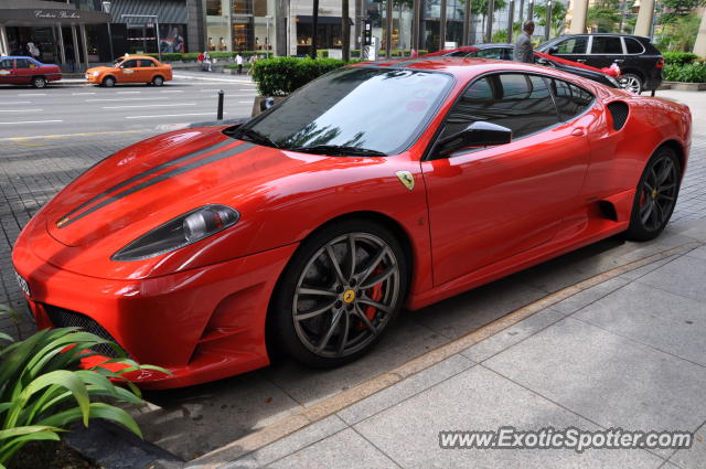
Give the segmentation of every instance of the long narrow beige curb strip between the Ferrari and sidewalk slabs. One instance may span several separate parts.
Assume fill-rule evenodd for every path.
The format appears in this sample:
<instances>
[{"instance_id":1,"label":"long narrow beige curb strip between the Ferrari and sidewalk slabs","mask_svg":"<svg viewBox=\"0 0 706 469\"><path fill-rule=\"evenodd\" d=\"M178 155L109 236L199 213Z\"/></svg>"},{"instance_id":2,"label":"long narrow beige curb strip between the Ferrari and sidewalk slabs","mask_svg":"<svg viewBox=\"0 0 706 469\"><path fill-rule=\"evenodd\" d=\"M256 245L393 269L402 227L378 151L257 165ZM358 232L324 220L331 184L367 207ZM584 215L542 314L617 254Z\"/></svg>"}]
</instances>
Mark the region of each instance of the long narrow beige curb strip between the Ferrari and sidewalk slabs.
<instances>
[{"instance_id":1,"label":"long narrow beige curb strip between the Ferrari and sidewalk slabs","mask_svg":"<svg viewBox=\"0 0 706 469\"><path fill-rule=\"evenodd\" d=\"M702 246L702 243L693 242L686 243L682 246L674 247L652 256L633 260L620 267L612 268L602 274L598 274L591 278L579 281L578 284L566 287L559 291L550 294L544 298L541 298L530 305L526 305L513 312L510 312L502 318L483 326L482 328L470 332L461 338L458 338L451 342L440 345L422 355L417 356L396 369L393 369L386 373L383 373L372 380L363 382L354 387L351 387L341 394L332 396L323 402L314 404L300 412L299 414L285 417L279 422L275 422L269 426L252 433L243 438L232 441L222 448L210 451L192 461L188 462L189 468L199 469L216 469L227 461L233 461L247 454L256 451L267 445L270 445L281 438L285 438L309 425L320 422L345 407L349 407L366 397L372 396L387 387L393 386L414 374L417 374L429 366L432 366L451 355L454 355L475 343L494 335L517 322L532 317L533 315L559 302L574 295L577 295L584 290L587 290L596 285L602 284L611 278L614 278L621 274L630 270L643 267L654 262L664 259L675 254L685 254L696 247Z\"/></svg>"}]
</instances>

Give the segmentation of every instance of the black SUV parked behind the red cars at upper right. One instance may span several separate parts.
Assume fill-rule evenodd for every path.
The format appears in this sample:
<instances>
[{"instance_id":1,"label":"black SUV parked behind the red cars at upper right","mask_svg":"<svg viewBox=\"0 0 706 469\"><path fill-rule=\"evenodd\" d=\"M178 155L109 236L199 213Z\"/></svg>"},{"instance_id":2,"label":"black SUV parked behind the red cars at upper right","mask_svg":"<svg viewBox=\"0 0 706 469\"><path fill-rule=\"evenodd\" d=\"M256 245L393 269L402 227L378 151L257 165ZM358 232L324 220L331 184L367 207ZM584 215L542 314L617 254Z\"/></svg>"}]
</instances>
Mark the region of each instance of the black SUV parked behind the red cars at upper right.
<instances>
[{"instance_id":1,"label":"black SUV parked behind the red cars at upper right","mask_svg":"<svg viewBox=\"0 0 706 469\"><path fill-rule=\"evenodd\" d=\"M628 34L569 34L539 45L537 52L597 68L613 62L622 72L621 85L634 93L656 89L662 84L664 58L650 38Z\"/></svg>"}]
</instances>

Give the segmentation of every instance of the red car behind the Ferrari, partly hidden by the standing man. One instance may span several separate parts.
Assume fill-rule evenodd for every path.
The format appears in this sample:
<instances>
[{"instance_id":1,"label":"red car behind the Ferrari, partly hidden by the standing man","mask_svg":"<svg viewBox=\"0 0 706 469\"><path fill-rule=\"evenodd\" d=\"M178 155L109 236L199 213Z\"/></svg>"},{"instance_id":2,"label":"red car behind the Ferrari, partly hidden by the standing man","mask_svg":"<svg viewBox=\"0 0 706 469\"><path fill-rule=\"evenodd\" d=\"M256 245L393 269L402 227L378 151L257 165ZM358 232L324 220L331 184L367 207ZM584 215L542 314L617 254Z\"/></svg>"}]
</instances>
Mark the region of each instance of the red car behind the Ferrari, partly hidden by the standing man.
<instances>
[{"instance_id":1,"label":"red car behind the Ferrari, partly hidden by the standing man","mask_svg":"<svg viewBox=\"0 0 706 469\"><path fill-rule=\"evenodd\" d=\"M496 58L500 61L512 61L515 46L507 43L492 43L492 44L473 44L464 45L462 47L451 49L447 51L432 52L430 54L422 55L424 57L445 56L445 57L479 57L479 58ZM573 73L578 76L582 76L593 82L598 82L612 88L620 87L619 82L612 76L603 73L599 68L595 68L588 65L584 65L576 62L569 62L566 60L553 60L546 54L535 53L535 62L539 65L550 66L553 68L560 70L563 72Z\"/></svg>"}]
</instances>

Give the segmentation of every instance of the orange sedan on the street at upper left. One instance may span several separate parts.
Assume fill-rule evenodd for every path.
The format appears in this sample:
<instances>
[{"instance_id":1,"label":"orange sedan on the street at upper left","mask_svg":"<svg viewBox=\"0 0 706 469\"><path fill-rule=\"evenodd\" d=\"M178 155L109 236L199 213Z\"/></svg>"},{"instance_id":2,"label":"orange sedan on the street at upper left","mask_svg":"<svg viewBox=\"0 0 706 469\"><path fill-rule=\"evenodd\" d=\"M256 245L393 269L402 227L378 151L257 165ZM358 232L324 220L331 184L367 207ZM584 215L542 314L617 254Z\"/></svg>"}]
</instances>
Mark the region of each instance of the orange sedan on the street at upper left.
<instances>
[{"instance_id":1,"label":"orange sedan on the street at upper left","mask_svg":"<svg viewBox=\"0 0 706 469\"><path fill-rule=\"evenodd\" d=\"M111 87L116 83L147 83L162 86L172 79L172 66L147 55L126 55L113 66L99 66L86 71L86 81Z\"/></svg>"}]
</instances>

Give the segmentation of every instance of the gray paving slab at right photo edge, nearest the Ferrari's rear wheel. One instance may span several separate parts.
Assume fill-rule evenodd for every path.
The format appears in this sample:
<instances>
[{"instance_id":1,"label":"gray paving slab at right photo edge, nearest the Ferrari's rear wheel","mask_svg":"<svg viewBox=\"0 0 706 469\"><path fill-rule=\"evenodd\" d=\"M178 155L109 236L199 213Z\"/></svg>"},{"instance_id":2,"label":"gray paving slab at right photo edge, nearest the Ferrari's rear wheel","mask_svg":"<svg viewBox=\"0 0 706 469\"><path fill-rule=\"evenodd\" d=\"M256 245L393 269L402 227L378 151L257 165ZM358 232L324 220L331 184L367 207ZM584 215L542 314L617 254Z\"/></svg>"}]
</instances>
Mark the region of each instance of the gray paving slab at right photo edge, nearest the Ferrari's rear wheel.
<instances>
[{"instance_id":1,"label":"gray paving slab at right photo edge, nearest the Ferrari's rear wheel","mask_svg":"<svg viewBox=\"0 0 706 469\"><path fill-rule=\"evenodd\" d=\"M641 277L638 281L687 298L706 301L706 281L704 279L706 279L706 259L682 256Z\"/></svg>"}]
</instances>

